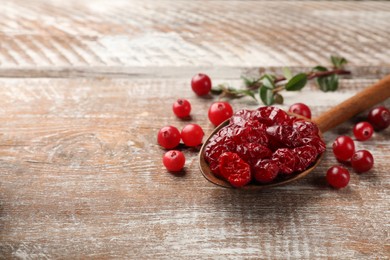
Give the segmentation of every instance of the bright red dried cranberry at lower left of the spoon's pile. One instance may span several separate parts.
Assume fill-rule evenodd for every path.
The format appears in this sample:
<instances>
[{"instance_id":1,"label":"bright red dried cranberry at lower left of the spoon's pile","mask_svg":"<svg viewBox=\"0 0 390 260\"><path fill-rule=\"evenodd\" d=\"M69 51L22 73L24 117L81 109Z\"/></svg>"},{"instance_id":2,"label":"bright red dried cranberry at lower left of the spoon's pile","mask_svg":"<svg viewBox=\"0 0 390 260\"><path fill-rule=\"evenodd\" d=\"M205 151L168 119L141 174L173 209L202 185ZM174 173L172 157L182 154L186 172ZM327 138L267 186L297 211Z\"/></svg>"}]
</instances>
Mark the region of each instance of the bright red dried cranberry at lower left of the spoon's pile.
<instances>
[{"instance_id":1,"label":"bright red dried cranberry at lower left of the spoon's pile","mask_svg":"<svg viewBox=\"0 0 390 260\"><path fill-rule=\"evenodd\" d=\"M252 179L249 165L236 153L222 154L219 158L219 169L221 175L236 188L245 186Z\"/></svg>"}]
</instances>

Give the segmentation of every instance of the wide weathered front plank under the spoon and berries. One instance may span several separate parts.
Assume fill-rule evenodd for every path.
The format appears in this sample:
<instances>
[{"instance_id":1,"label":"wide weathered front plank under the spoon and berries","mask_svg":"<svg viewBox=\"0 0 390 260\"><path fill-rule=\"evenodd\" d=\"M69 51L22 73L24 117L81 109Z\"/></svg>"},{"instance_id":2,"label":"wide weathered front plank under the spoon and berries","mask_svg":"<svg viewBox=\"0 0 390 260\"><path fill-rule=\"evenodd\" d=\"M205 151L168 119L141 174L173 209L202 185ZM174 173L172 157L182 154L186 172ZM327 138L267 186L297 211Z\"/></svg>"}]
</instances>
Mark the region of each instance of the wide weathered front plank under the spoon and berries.
<instances>
[{"instance_id":1,"label":"wide weathered front plank under the spoon and berries","mask_svg":"<svg viewBox=\"0 0 390 260\"><path fill-rule=\"evenodd\" d=\"M216 83L238 80L213 75ZM236 75L236 79L239 74ZM335 93L286 93L318 115L375 79L346 79ZM212 131L212 100L188 79L0 79L0 258L379 258L389 253L389 130L368 142L376 160L336 191L324 181L330 152L353 121L325 135L328 152L307 178L263 192L213 186L184 150L185 174L161 165L160 127L182 127L171 104L193 105ZM255 108L250 99L235 110ZM390 105L389 102L386 103Z\"/></svg>"}]
</instances>

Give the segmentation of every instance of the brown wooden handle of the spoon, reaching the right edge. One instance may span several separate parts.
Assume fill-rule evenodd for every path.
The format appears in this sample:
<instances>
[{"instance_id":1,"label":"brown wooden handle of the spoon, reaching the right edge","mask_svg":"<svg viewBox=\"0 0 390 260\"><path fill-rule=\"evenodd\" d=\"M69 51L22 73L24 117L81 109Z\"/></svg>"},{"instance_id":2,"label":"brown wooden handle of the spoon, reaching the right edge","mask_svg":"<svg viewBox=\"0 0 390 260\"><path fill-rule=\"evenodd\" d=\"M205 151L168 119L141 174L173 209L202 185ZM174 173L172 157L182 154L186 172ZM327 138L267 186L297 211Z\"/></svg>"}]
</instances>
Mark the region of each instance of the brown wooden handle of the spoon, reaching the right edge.
<instances>
[{"instance_id":1,"label":"brown wooden handle of the spoon, reaching the right edge","mask_svg":"<svg viewBox=\"0 0 390 260\"><path fill-rule=\"evenodd\" d=\"M322 133L390 97L390 75L313 119Z\"/></svg>"}]
</instances>

